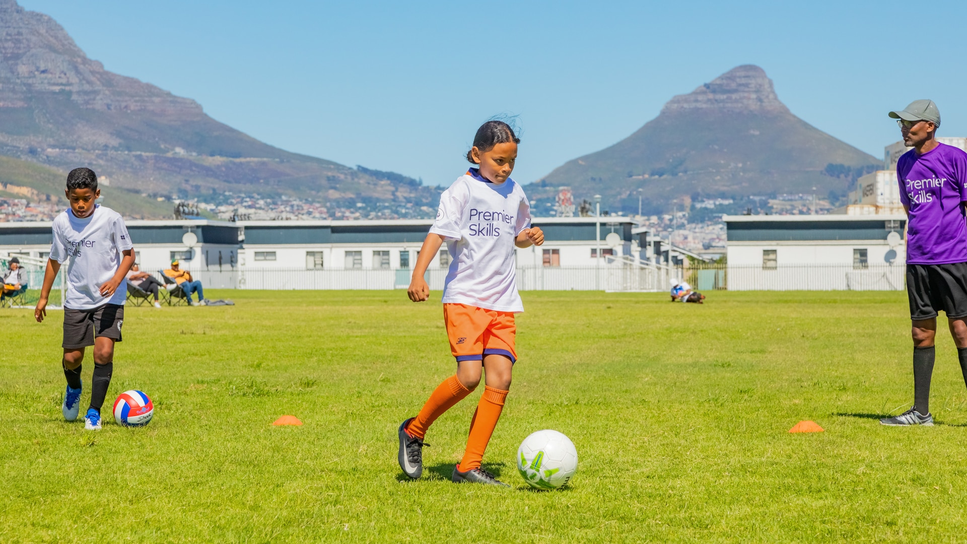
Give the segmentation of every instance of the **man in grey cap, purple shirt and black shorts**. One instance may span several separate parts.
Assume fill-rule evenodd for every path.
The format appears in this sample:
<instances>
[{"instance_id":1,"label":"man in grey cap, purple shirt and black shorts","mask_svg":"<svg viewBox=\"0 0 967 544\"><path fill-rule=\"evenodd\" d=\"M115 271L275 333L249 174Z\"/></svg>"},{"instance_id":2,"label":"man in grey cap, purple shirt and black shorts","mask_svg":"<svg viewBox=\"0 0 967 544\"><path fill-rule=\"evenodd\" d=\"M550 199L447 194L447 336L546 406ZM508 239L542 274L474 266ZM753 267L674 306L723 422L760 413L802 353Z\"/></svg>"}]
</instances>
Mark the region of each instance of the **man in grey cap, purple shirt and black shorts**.
<instances>
[{"instance_id":1,"label":"man in grey cap, purple shirt and black shorts","mask_svg":"<svg viewBox=\"0 0 967 544\"><path fill-rule=\"evenodd\" d=\"M909 218L906 283L913 321L914 405L880 423L933 425L930 377L941 310L967 382L967 153L937 141L940 111L933 101L914 101L890 116L897 119L903 143L913 147L896 164L896 179Z\"/></svg>"}]
</instances>

